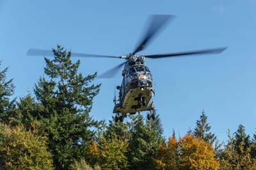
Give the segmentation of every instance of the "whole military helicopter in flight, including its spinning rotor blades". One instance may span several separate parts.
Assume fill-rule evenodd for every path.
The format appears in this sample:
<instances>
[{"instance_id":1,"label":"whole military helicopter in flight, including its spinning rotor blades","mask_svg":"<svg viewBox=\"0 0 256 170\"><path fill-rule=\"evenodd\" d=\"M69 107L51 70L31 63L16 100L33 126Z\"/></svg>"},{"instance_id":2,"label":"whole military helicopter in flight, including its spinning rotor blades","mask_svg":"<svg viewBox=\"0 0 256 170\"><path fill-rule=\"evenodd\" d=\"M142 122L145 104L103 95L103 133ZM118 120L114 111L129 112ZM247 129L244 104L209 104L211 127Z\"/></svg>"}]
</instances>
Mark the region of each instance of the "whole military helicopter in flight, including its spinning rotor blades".
<instances>
[{"instance_id":1,"label":"whole military helicopter in flight, including its spinning rotor blades","mask_svg":"<svg viewBox=\"0 0 256 170\"><path fill-rule=\"evenodd\" d=\"M174 15L151 15L149 25L145 35L141 39L140 43L136 46L133 52L124 56L104 56L95 54L83 54L72 52L72 56L76 57L93 57L93 58L119 58L125 59L120 65L111 68L106 73L99 75L98 78L112 78L120 68L124 67L122 71L123 80L120 86L116 89L119 90L118 100L116 97L113 102L115 107L113 113L116 114L115 121L123 121L127 114L132 115L136 112L149 111L147 114L148 120L155 119L154 104L152 96L154 92L154 81L149 68L145 65L145 59L157 59L157 58L170 58L178 56L188 55L200 55L200 54L220 54L227 47L220 47L214 49L203 50L191 50L184 52L173 52L166 54L152 54L152 55L136 55L141 50L147 47L148 42L156 36L157 33L172 19ZM51 50L29 49L28 56L52 56Z\"/></svg>"}]
</instances>

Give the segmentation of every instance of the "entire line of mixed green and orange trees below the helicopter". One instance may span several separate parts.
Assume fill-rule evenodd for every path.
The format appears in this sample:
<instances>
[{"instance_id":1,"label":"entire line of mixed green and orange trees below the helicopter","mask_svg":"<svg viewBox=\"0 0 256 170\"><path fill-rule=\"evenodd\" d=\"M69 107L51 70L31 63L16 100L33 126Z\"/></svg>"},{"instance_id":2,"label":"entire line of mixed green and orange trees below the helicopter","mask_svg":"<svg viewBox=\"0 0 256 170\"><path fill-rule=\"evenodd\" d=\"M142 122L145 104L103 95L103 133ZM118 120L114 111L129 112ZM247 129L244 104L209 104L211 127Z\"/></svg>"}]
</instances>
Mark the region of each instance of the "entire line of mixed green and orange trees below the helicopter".
<instances>
[{"instance_id":1,"label":"entire line of mixed green and orange trees below the helicopter","mask_svg":"<svg viewBox=\"0 0 256 170\"><path fill-rule=\"evenodd\" d=\"M0 169L256 169L256 135L239 125L218 143L204 112L184 137L173 131L167 141L157 113L154 121L95 121L97 73L83 77L71 52L52 51L33 94L18 100L8 68L0 70Z\"/></svg>"}]
</instances>

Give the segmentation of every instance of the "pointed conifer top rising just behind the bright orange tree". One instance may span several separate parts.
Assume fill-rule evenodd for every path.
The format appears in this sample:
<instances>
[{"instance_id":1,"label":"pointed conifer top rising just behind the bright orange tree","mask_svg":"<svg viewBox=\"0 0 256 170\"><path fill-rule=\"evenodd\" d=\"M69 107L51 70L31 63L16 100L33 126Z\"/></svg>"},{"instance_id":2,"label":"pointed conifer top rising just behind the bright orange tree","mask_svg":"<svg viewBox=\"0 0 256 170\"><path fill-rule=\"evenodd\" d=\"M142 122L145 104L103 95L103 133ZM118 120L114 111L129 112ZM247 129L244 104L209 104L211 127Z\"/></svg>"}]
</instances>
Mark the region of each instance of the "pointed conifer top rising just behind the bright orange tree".
<instances>
[{"instance_id":1,"label":"pointed conifer top rising just behind the bright orange tree","mask_svg":"<svg viewBox=\"0 0 256 170\"><path fill-rule=\"evenodd\" d=\"M207 123L207 116L205 112L202 112L200 120L196 121L196 127L194 129L193 135L199 139L203 139L207 143L214 143L216 141L216 135L210 132L211 126Z\"/></svg>"}]
</instances>

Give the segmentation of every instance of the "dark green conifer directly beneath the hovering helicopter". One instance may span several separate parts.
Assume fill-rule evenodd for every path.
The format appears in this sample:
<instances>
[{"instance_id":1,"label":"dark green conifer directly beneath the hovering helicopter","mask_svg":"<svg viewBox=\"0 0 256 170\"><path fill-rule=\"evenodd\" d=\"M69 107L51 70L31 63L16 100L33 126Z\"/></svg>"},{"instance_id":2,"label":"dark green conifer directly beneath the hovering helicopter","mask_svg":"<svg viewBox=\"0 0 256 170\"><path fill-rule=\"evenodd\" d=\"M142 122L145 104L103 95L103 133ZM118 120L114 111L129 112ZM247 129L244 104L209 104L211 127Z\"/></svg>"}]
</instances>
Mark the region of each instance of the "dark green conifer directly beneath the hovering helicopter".
<instances>
[{"instance_id":1,"label":"dark green conifer directly beneath the hovering helicopter","mask_svg":"<svg viewBox=\"0 0 256 170\"><path fill-rule=\"evenodd\" d=\"M154 121L149 120L144 123L143 116L138 114L134 121L134 130L132 132L131 166L132 169L155 169L152 158L163 142L163 128L159 115Z\"/></svg>"}]
</instances>

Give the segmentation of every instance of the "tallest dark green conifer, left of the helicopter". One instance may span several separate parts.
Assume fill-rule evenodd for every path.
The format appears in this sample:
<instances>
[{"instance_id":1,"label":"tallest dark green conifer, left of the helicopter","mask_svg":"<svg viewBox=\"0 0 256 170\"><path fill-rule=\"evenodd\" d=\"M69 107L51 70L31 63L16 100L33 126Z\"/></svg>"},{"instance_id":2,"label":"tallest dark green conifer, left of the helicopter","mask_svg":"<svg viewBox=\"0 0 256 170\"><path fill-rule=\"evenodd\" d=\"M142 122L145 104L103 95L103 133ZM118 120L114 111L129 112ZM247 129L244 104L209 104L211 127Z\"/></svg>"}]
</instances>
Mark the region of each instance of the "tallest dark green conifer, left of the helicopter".
<instances>
[{"instance_id":1,"label":"tallest dark green conifer, left of the helicopter","mask_svg":"<svg viewBox=\"0 0 256 170\"><path fill-rule=\"evenodd\" d=\"M52 52L54 59L45 58L46 77L40 77L34 89L40 107L31 115L44 124L55 168L67 169L84 155L95 134L92 127L99 124L89 112L100 85L91 84L97 73L77 73L80 61L72 63L70 51L58 45Z\"/></svg>"}]
</instances>

